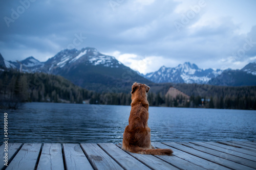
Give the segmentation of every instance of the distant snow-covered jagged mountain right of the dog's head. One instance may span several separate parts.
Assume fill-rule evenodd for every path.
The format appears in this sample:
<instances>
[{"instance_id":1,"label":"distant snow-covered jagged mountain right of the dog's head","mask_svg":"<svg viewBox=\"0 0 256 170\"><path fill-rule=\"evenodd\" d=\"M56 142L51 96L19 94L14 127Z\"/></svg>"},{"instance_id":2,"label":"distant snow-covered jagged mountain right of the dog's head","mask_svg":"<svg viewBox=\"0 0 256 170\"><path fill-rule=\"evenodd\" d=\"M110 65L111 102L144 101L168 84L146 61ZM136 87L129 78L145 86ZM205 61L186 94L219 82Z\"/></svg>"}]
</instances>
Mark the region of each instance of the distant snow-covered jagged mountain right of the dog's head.
<instances>
[{"instance_id":1,"label":"distant snow-covered jagged mountain right of the dog's head","mask_svg":"<svg viewBox=\"0 0 256 170\"><path fill-rule=\"evenodd\" d=\"M196 64L185 62L177 67L168 68L162 66L158 71L148 73L144 77L155 83L207 83L211 78L217 77L222 70L201 69Z\"/></svg>"}]
</instances>

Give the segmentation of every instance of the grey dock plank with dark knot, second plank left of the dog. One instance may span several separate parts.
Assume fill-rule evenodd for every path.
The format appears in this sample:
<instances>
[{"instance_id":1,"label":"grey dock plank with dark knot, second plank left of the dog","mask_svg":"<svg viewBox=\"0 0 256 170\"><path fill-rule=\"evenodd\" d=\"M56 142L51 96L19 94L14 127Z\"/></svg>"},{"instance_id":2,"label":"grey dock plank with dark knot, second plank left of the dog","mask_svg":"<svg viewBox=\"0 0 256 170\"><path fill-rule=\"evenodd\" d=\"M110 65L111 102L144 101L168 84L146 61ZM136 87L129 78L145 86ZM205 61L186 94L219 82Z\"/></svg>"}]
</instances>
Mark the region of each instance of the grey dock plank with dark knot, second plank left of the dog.
<instances>
[{"instance_id":1,"label":"grey dock plank with dark knot, second plank left of the dog","mask_svg":"<svg viewBox=\"0 0 256 170\"><path fill-rule=\"evenodd\" d=\"M81 143L92 166L96 169L123 169L114 159L106 154L96 143Z\"/></svg>"}]
</instances>

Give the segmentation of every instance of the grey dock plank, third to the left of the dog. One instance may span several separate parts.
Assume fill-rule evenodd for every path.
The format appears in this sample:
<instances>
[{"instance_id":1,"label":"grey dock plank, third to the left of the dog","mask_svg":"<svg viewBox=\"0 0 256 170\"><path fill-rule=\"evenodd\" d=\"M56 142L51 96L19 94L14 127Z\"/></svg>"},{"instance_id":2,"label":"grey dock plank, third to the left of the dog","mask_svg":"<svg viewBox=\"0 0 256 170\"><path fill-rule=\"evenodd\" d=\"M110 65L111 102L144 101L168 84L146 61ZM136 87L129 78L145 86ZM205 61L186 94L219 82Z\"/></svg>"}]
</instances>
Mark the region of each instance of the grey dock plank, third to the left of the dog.
<instances>
[{"instance_id":1,"label":"grey dock plank, third to the left of the dog","mask_svg":"<svg viewBox=\"0 0 256 170\"><path fill-rule=\"evenodd\" d=\"M63 143L65 165L68 170L93 169L79 144Z\"/></svg>"}]
</instances>

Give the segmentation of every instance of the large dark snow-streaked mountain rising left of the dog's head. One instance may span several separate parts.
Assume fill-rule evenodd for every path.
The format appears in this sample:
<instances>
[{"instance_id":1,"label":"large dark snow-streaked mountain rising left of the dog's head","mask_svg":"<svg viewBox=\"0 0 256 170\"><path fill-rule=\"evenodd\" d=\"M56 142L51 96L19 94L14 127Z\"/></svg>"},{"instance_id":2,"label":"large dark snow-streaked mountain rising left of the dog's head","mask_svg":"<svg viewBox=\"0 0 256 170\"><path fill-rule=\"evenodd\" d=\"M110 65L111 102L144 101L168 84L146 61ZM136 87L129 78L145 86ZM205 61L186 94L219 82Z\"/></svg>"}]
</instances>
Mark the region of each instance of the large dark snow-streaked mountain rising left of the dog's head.
<instances>
[{"instance_id":1,"label":"large dark snow-streaked mountain rising left of the dog's head","mask_svg":"<svg viewBox=\"0 0 256 170\"><path fill-rule=\"evenodd\" d=\"M24 72L59 75L75 85L95 91L130 91L135 81L151 83L115 57L103 55L92 47L62 50L46 62L29 57L20 62L9 63Z\"/></svg>"}]
</instances>

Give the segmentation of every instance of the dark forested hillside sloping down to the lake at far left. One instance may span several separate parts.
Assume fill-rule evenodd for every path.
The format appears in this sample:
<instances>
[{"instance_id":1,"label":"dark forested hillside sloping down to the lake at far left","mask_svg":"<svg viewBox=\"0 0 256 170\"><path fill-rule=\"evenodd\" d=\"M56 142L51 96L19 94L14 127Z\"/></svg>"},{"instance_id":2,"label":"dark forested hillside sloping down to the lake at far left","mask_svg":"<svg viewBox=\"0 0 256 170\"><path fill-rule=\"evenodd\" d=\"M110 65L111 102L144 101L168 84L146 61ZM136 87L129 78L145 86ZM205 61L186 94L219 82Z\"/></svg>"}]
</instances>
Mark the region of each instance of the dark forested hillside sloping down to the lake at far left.
<instances>
[{"instance_id":1,"label":"dark forested hillside sloping down to the lake at far left","mask_svg":"<svg viewBox=\"0 0 256 170\"><path fill-rule=\"evenodd\" d=\"M61 76L45 73L20 73L15 70L0 74L0 107L17 108L24 102L83 103L93 91L72 84Z\"/></svg>"}]
</instances>

